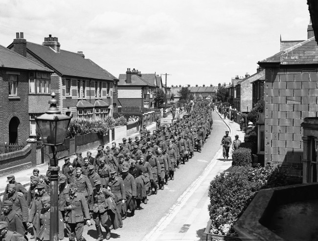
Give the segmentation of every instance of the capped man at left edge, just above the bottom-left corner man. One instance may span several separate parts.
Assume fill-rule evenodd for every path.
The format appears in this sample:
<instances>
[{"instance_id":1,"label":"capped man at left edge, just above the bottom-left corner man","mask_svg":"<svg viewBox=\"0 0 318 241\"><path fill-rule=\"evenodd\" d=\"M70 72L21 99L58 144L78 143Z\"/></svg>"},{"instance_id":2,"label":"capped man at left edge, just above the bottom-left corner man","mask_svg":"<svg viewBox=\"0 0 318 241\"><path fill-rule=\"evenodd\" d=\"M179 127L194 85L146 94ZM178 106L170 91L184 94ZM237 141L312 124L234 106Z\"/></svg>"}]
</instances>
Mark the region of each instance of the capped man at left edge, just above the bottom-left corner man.
<instances>
[{"instance_id":1,"label":"capped man at left edge, just above the bottom-left corner man","mask_svg":"<svg viewBox=\"0 0 318 241\"><path fill-rule=\"evenodd\" d=\"M12 206L13 203L9 200L3 202L3 214L0 217L0 221L6 221L8 223L8 230L24 235L25 230L22 217L16 211L12 210Z\"/></svg>"}]
</instances>

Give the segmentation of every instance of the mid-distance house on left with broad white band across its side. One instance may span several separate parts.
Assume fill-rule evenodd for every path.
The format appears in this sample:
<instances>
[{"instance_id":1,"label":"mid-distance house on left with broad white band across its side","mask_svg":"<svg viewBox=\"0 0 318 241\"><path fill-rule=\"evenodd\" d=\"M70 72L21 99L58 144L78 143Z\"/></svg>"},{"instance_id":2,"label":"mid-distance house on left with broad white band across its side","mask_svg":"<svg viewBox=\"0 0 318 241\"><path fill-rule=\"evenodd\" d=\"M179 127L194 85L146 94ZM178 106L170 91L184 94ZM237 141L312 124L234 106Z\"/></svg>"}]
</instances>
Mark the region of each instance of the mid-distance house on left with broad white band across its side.
<instances>
[{"instance_id":1,"label":"mid-distance house on left with broad white band across its side","mask_svg":"<svg viewBox=\"0 0 318 241\"><path fill-rule=\"evenodd\" d=\"M156 90L158 88L156 73L141 74L130 68L119 74L118 102L121 106L154 108Z\"/></svg>"}]
</instances>

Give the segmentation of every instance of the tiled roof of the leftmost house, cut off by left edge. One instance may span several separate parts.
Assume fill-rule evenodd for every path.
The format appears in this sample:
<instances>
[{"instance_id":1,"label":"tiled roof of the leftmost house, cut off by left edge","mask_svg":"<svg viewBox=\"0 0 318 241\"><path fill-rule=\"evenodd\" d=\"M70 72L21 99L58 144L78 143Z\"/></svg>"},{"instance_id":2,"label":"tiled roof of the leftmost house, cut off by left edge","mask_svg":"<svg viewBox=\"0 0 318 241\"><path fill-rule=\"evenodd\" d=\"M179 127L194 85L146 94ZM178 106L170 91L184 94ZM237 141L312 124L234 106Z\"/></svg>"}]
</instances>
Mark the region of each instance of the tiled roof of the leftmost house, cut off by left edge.
<instances>
[{"instance_id":1,"label":"tiled roof of the leftmost house, cut off by left edge","mask_svg":"<svg viewBox=\"0 0 318 241\"><path fill-rule=\"evenodd\" d=\"M25 57L13 50L0 45L0 67L19 69L19 70L35 70L53 72Z\"/></svg>"}]
</instances>

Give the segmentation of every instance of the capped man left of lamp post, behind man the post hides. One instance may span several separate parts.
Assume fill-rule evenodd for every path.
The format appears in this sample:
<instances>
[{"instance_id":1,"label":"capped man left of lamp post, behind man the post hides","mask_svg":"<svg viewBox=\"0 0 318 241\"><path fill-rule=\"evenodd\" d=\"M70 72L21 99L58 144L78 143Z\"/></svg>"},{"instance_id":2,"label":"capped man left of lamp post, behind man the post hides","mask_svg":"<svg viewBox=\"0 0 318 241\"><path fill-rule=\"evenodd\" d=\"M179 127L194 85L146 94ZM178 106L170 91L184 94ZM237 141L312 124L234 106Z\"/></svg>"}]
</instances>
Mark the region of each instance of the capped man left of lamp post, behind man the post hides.
<instances>
[{"instance_id":1,"label":"capped man left of lamp post, behind man the post hides","mask_svg":"<svg viewBox=\"0 0 318 241\"><path fill-rule=\"evenodd\" d=\"M38 192L33 198L26 225L29 227L30 224L32 223L34 236L39 238L39 233L40 233L39 215L40 215L41 209L43 208L41 201L43 197L49 196L49 195L46 193L44 184L38 183L38 185L36 186L36 189L38 190Z\"/></svg>"}]
</instances>

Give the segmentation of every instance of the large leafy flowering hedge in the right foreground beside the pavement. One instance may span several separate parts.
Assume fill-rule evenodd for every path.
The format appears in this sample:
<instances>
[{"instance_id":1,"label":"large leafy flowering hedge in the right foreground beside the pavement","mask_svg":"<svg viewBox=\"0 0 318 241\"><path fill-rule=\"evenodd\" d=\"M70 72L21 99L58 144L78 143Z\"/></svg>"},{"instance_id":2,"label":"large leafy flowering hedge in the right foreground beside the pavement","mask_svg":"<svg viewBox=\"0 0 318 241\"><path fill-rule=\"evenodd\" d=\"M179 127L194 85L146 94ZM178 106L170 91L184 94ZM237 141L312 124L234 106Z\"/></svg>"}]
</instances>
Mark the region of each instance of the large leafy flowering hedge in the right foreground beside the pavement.
<instances>
[{"instance_id":1,"label":"large leafy flowering hedge in the right foreground beside the pavement","mask_svg":"<svg viewBox=\"0 0 318 241\"><path fill-rule=\"evenodd\" d=\"M210 233L237 236L233 224L243 214L259 190L286 186L287 174L272 166L233 167L211 181L208 196L208 211L211 222Z\"/></svg>"}]
</instances>

